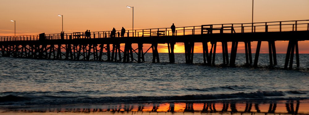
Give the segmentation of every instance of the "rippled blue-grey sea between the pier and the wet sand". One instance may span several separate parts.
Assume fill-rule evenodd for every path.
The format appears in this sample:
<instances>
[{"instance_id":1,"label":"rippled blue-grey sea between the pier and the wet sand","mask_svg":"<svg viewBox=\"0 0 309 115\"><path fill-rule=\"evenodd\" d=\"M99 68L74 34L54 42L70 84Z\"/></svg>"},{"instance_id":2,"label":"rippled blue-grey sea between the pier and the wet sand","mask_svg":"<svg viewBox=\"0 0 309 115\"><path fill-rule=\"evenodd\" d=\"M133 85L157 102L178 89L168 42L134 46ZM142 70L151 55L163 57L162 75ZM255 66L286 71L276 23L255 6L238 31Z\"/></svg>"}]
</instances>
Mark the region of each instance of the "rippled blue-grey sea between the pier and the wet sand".
<instances>
[{"instance_id":1,"label":"rippled blue-grey sea between the pier and the wet sand","mask_svg":"<svg viewBox=\"0 0 309 115\"><path fill-rule=\"evenodd\" d=\"M284 70L285 54L269 69L261 54L259 68L185 64L184 54L160 53L161 63L68 61L0 57L0 105L117 103L180 100L309 99L309 54L300 54L300 67ZM254 57L253 57L254 58ZM222 63L217 54L216 63Z\"/></svg>"}]
</instances>

